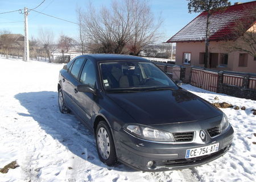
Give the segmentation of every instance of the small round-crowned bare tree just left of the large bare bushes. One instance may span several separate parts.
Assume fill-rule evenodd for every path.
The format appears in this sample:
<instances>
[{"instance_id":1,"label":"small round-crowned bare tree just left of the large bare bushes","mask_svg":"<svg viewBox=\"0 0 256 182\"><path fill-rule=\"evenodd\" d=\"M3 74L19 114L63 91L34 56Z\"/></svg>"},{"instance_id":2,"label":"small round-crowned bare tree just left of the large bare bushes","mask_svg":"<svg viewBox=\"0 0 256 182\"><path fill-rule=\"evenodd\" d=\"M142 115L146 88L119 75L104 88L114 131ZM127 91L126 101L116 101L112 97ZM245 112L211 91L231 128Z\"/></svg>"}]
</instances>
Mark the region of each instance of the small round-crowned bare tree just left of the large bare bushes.
<instances>
[{"instance_id":1,"label":"small round-crowned bare tree just left of the large bare bushes","mask_svg":"<svg viewBox=\"0 0 256 182\"><path fill-rule=\"evenodd\" d=\"M64 61L64 53L68 52L74 46L74 43L75 43L75 40L73 40L72 38L69 38L69 36L60 35L58 48L62 53L63 61Z\"/></svg>"}]
</instances>

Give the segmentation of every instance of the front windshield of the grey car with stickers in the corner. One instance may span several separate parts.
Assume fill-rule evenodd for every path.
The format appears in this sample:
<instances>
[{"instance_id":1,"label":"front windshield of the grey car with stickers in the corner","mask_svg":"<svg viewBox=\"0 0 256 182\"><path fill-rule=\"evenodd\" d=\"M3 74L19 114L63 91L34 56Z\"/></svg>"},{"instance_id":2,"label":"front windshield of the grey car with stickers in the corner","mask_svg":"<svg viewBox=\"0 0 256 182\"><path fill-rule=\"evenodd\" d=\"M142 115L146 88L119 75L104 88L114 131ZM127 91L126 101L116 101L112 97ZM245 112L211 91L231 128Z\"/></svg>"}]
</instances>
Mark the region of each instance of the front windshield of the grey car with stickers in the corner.
<instances>
[{"instance_id":1,"label":"front windshield of the grey car with stickers in the corner","mask_svg":"<svg viewBox=\"0 0 256 182\"><path fill-rule=\"evenodd\" d=\"M108 92L140 92L178 89L174 82L152 63L115 61L100 63L102 83Z\"/></svg>"}]
</instances>

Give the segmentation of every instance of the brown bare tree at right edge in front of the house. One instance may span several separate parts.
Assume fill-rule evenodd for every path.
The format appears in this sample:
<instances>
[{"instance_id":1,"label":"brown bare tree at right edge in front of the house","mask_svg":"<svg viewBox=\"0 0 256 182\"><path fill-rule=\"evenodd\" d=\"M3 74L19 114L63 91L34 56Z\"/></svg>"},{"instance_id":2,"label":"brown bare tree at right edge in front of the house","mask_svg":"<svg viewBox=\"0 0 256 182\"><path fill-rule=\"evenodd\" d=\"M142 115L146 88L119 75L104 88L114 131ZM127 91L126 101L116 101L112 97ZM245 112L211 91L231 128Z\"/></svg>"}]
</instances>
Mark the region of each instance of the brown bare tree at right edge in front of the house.
<instances>
[{"instance_id":1,"label":"brown bare tree at right edge in front of the house","mask_svg":"<svg viewBox=\"0 0 256 182\"><path fill-rule=\"evenodd\" d=\"M223 47L228 52L246 52L256 60L256 8L246 13L246 18L236 22L232 35L227 38L231 41L225 42Z\"/></svg>"}]
</instances>

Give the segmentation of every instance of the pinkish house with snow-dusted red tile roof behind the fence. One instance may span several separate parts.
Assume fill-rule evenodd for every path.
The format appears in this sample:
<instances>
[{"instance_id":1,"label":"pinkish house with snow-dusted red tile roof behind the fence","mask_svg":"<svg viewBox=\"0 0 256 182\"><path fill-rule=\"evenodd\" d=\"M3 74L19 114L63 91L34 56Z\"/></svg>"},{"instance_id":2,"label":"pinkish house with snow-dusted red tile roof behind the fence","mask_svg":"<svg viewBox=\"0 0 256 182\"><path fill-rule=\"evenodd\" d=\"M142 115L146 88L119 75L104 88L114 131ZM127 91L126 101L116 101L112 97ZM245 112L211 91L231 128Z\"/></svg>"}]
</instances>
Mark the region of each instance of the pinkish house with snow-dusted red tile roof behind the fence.
<instances>
[{"instance_id":1,"label":"pinkish house with snow-dusted red tile roof behind the fence","mask_svg":"<svg viewBox=\"0 0 256 182\"><path fill-rule=\"evenodd\" d=\"M243 43L234 30L241 22L246 32L256 33L256 1L235 3L210 15L210 68L256 73L256 59L245 51L231 51L227 45ZM249 18L250 17L250 18ZM204 11L172 36L167 43L176 43L176 64L204 67L207 12ZM254 39L256 36L254 36ZM255 42L255 40L254 40ZM255 44L253 45L255 47ZM255 50L254 50L255 52Z\"/></svg>"}]
</instances>

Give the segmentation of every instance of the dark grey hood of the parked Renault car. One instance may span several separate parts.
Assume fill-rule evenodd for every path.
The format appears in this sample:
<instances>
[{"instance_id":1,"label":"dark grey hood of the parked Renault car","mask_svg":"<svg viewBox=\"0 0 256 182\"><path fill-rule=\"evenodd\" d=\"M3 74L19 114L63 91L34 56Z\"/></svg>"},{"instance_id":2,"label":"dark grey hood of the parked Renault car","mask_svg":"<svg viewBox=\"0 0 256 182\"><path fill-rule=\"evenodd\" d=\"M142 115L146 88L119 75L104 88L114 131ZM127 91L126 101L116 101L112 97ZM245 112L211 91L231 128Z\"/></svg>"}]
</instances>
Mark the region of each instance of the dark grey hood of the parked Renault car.
<instances>
[{"instance_id":1,"label":"dark grey hood of the parked Renault car","mask_svg":"<svg viewBox=\"0 0 256 182\"><path fill-rule=\"evenodd\" d=\"M109 93L108 97L142 125L191 122L222 114L209 102L184 89Z\"/></svg>"}]
</instances>

